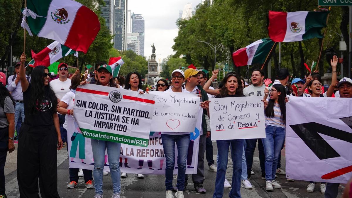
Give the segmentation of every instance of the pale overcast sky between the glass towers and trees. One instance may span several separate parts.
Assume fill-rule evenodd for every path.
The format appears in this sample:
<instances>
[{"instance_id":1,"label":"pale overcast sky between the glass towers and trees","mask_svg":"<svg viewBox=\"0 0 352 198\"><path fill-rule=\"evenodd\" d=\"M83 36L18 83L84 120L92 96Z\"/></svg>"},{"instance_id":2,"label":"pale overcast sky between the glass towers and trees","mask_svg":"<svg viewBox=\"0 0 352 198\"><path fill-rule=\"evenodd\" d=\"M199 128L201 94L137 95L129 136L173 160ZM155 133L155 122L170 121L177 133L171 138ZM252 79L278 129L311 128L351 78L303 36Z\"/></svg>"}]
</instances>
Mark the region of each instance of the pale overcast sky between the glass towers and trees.
<instances>
[{"instance_id":1,"label":"pale overcast sky between the glass towers and trees","mask_svg":"<svg viewBox=\"0 0 352 198\"><path fill-rule=\"evenodd\" d=\"M156 59L174 54L172 45L177 36L176 20L184 5L192 3L193 10L200 0L128 0L128 10L142 14L145 20L144 56L152 54L153 43Z\"/></svg>"}]
</instances>

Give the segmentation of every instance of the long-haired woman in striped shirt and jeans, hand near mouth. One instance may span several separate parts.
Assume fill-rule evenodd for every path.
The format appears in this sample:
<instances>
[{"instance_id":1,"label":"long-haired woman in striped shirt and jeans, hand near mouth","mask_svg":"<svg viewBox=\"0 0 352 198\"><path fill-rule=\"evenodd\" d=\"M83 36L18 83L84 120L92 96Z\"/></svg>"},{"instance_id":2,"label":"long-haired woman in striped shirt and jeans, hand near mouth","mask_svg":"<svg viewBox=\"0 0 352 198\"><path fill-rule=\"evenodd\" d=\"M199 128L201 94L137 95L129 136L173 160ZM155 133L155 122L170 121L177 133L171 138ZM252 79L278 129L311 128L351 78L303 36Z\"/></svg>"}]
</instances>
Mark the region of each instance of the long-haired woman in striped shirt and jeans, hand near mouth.
<instances>
[{"instance_id":1,"label":"long-haired woman in striped shirt and jeans, hand near mouth","mask_svg":"<svg viewBox=\"0 0 352 198\"><path fill-rule=\"evenodd\" d=\"M265 92L268 94L268 92ZM266 190L281 188L275 181L277 161L281 152L281 147L285 141L285 107L286 91L281 84L275 84L270 89L270 99L265 103L265 134L262 138L265 153L265 179ZM274 188L273 188L274 187Z\"/></svg>"}]
</instances>

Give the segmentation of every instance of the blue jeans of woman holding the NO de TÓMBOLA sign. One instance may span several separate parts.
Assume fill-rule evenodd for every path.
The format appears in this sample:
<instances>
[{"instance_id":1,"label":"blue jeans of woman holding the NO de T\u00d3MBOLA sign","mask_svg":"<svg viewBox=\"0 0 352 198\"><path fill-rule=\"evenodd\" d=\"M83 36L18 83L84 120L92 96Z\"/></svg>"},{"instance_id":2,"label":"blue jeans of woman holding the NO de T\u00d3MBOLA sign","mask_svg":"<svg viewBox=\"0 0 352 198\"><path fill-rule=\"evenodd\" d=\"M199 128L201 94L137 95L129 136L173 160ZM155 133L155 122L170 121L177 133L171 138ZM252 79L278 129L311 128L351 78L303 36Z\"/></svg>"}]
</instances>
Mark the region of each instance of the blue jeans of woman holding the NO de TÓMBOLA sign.
<instances>
[{"instance_id":1,"label":"blue jeans of woman holding the NO de T\u00d3MBOLA sign","mask_svg":"<svg viewBox=\"0 0 352 198\"><path fill-rule=\"evenodd\" d=\"M220 198L224 194L224 182L228 161L228 148L231 146L232 158L232 184L231 191L228 194L230 198L241 197L241 172L242 172L242 154L244 140L218 140L218 171L216 172L215 191L213 198Z\"/></svg>"}]
</instances>

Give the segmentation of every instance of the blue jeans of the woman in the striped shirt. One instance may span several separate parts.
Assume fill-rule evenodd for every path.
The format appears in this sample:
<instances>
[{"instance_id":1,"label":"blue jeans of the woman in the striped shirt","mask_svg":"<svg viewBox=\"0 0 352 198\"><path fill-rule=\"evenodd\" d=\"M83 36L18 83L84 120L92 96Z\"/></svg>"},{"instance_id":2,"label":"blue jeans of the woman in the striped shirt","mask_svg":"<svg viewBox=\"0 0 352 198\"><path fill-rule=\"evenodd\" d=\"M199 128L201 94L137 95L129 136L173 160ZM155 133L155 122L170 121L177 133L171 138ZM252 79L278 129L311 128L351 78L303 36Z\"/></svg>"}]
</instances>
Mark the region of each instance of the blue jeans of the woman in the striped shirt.
<instances>
[{"instance_id":1,"label":"blue jeans of the woman in the striped shirt","mask_svg":"<svg viewBox=\"0 0 352 198\"><path fill-rule=\"evenodd\" d=\"M265 153L265 179L275 180L277 161L281 147L285 141L286 129L278 126L266 125L266 138L262 138Z\"/></svg>"}]
</instances>

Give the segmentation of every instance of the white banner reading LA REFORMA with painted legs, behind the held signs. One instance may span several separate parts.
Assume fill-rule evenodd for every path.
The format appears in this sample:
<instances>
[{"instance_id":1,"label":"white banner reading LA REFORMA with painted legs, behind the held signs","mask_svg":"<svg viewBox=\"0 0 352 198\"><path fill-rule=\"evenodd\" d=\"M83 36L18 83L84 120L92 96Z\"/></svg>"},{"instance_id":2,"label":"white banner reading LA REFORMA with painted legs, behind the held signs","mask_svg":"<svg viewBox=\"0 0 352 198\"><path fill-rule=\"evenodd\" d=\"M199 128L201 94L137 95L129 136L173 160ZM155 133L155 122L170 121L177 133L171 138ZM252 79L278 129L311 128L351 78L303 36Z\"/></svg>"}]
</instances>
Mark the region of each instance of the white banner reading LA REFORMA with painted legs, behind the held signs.
<instances>
[{"instance_id":1,"label":"white banner reading LA REFORMA with painted legs, behind the held signs","mask_svg":"<svg viewBox=\"0 0 352 198\"><path fill-rule=\"evenodd\" d=\"M85 138L81 134L74 118L68 118L68 153L70 168L83 168L93 170L93 152L90 138ZM199 150L199 130L190 136L190 146L187 156L186 174L197 172L198 150ZM162 145L161 133L150 132L149 144L147 148L121 144L120 169L126 173L140 174L165 174L165 155ZM175 166L177 167L177 147L175 147ZM174 174L177 174L177 168ZM108 156L105 154L104 171L109 170Z\"/></svg>"}]
</instances>

